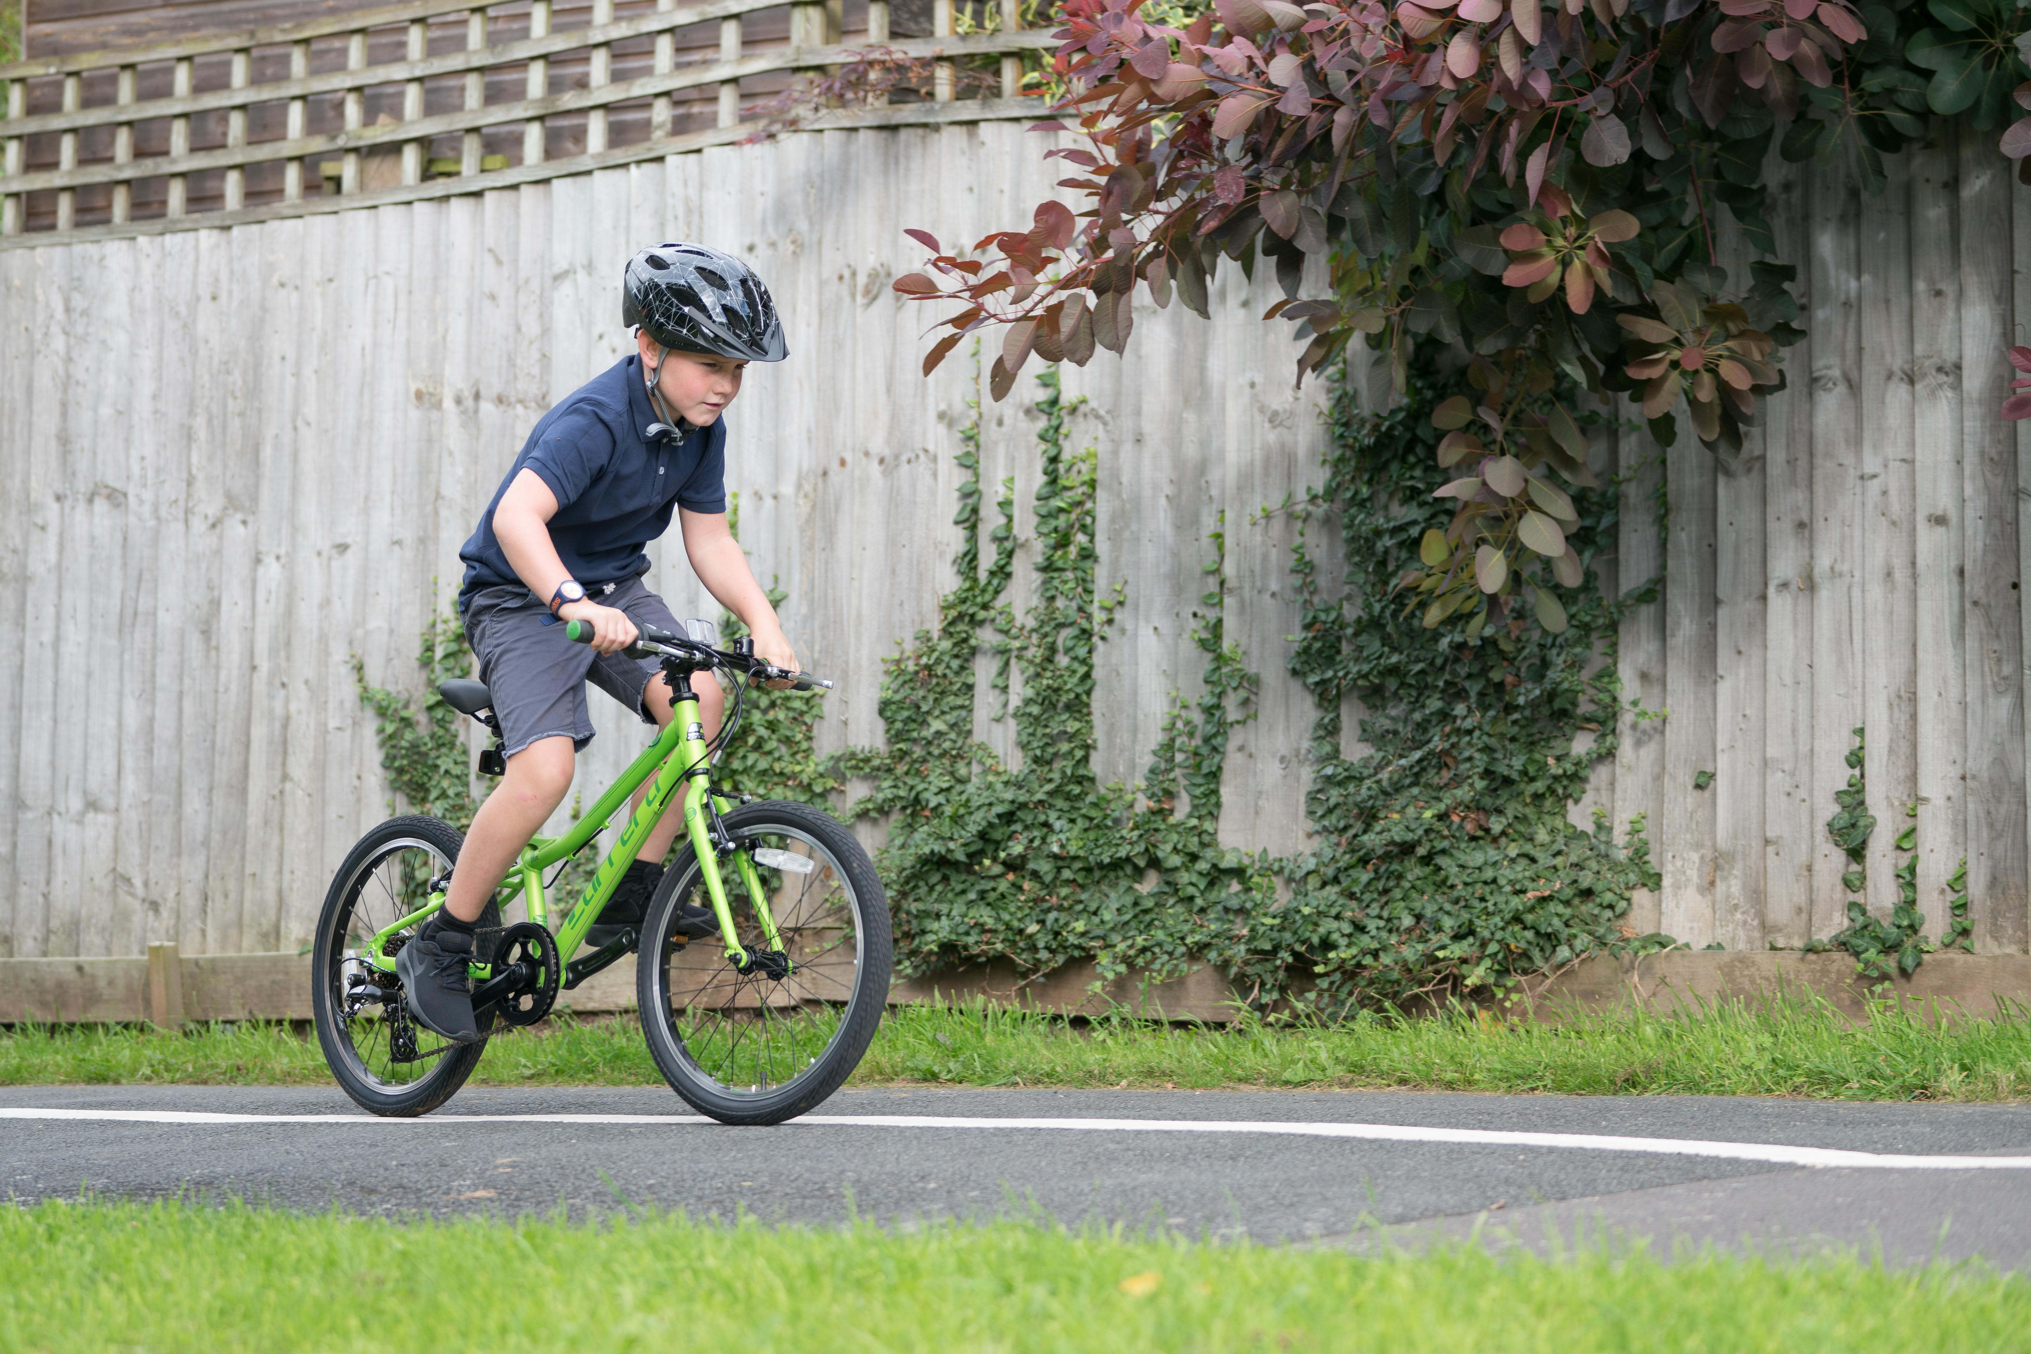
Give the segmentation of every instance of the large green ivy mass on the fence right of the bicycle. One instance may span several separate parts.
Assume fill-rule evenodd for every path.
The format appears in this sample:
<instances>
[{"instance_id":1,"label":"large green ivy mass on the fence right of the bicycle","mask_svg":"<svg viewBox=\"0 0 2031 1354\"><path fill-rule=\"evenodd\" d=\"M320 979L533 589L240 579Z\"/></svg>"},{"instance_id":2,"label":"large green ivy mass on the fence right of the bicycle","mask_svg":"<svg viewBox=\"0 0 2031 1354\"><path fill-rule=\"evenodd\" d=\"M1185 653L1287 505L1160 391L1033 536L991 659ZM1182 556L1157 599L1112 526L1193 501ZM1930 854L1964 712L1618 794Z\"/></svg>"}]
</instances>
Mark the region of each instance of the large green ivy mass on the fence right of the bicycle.
<instances>
[{"instance_id":1,"label":"large green ivy mass on the fence right of the bicycle","mask_svg":"<svg viewBox=\"0 0 2031 1354\"><path fill-rule=\"evenodd\" d=\"M1223 629L1225 514L1208 538L1208 589L1194 611L1206 658L1202 692L1168 710L1135 786L1093 769L1093 660L1121 593L1095 577L1097 453L1068 449L1074 406L1056 369L1040 378L1038 581L1018 613L1003 601L1016 568L1013 483L993 497L987 532L977 420L961 432L959 583L936 627L888 662L879 713L888 747L853 749L833 773L865 777L855 814L883 814L879 865L904 960L920 972L1011 958L1026 972L1072 960L1101 974L1182 972L1210 962L1257 1005L1324 1015L1418 995L1489 995L1521 974L1596 950L1669 944L1625 934L1631 889L1657 885L1641 824L1566 822L1594 759L1613 755L1615 619L1623 601L1578 601L1564 633L1521 623L1436 631L1393 597L1405 540L1444 518L1414 493L1434 455L1440 390L1420 378L1383 416L1336 390L1326 485L1304 505L1334 522L1347 589L1318 577L1300 544L1304 635L1294 672L1318 700L1316 788L1304 806L1322 844L1292 859L1221 847L1221 773L1255 682ZM1590 568L1613 538L1615 493L1576 499L1570 540ZM1639 591L1639 597L1649 593ZM1422 609L1420 609L1422 613ZM975 656L1016 696L1020 765L973 737ZM1607 652L1611 662L1596 664ZM1340 696L1371 710L1375 747L1338 753ZM1574 751L1582 731L1596 733ZM1298 804L1292 804L1296 810Z\"/></svg>"}]
</instances>

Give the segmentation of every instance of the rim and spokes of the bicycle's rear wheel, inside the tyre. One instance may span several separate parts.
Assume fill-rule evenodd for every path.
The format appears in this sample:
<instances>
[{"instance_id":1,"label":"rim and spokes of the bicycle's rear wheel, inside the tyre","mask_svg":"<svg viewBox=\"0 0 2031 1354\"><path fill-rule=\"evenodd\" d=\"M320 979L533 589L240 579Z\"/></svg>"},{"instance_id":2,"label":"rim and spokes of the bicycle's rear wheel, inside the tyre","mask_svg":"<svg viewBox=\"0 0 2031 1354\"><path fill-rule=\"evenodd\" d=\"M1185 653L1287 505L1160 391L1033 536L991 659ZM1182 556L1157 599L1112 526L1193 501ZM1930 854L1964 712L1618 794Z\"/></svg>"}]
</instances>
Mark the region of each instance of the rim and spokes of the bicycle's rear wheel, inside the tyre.
<instances>
[{"instance_id":1,"label":"rim and spokes of the bicycle's rear wheel, inside the tyre","mask_svg":"<svg viewBox=\"0 0 2031 1354\"><path fill-rule=\"evenodd\" d=\"M345 881L345 901L333 932L331 968L325 976L325 1001L337 1031L339 1056L351 1066L353 1076L388 1092L408 1090L429 1080L445 1058L461 1045L431 1033L406 1015L390 1019L388 1011L400 1009L394 1003L364 1005L349 1015L347 995L355 980L370 970L366 950L374 934L427 905L431 879L449 869L451 857L443 851L420 836L402 836L386 842ZM406 944L416 938L414 930L406 928L396 936ZM398 993L392 985L382 991ZM414 1039L416 1058L412 1062L396 1062L404 1025Z\"/></svg>"}]
</instances>

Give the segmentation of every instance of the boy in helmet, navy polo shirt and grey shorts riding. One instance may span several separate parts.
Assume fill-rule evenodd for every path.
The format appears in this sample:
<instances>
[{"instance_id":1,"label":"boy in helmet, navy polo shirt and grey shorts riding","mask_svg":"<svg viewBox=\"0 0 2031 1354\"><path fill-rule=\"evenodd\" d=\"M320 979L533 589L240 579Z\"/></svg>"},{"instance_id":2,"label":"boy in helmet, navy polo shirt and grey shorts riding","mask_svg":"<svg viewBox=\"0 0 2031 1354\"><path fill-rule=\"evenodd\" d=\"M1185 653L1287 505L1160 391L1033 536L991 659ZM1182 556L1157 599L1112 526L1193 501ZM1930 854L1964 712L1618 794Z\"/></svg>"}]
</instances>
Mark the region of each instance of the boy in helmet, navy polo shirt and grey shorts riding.
<instances>
[{"instance_id":1,"label":"boy in helmet, navy polo shirt and grey shorts riding","mask_svg":"<svg viewBox=\"0 0 2031 1354\"><path fill-rule=\"evenodd\" d=\"M788 355L768 288L737 258L662 244L630 260L621 323L636 327L636 353L542 416L459 550L459 615L500 721L508 771L473 816L443 911L396 956L410 1009L445 1039L479 1037L467 978L475 922L571 790L575 755L593 739L585 682L644 723L670 723L670 690L652 680L656 662L621 650L636 641L638 625L676 629L662 599L642 585L650 566L642 550L668 530L672 507L693 572L747 625L756 656L798 666L727 530L721 414L749 361ZM565 621L589 625L591 648L567 637ZM725 696L715 682L699 682L697 692L713 737ZM642 920L662 875L656 861L678 826L678 814L666 814L648 834L601 924ZM686 903L684 928L711 934L713 913Z\"/></svg>"}]
</instances>

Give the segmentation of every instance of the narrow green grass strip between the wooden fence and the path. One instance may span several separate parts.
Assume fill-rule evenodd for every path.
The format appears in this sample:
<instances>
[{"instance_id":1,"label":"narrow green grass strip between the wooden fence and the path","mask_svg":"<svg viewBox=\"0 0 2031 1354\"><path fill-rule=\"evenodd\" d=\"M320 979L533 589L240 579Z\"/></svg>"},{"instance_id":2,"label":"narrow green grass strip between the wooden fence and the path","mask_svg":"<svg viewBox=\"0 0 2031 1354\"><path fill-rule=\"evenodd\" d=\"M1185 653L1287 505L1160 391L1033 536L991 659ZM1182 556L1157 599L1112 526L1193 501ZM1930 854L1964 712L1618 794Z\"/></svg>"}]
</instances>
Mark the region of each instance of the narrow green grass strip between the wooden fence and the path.
<instances>
[{"instance_id":1,"label":"narrow green grass strip between the wooden fence and the path","mask_svg":"<svg viewBox=\"0 0 2031 1354\"><path fill-rule=\"evenodd\" d=\"M475 1084L650 1086L632 1019L556 1019L487 1045ZM213 1082L323 1086L317 1041L288 1025L16 1027L0 1084ZM1879 1005L1850 1025L1816 999L1694 1015L1643 1011L1564 1025L1365 1017L1280 1029L1068 1023L993 1007L892 1011L853 1084L1399 1086L1560 1094L1743 1094L1846 1100L2017 1100L2031 1094L2031 1015L1942 1021Z\"/></svg>"}]
</instances>

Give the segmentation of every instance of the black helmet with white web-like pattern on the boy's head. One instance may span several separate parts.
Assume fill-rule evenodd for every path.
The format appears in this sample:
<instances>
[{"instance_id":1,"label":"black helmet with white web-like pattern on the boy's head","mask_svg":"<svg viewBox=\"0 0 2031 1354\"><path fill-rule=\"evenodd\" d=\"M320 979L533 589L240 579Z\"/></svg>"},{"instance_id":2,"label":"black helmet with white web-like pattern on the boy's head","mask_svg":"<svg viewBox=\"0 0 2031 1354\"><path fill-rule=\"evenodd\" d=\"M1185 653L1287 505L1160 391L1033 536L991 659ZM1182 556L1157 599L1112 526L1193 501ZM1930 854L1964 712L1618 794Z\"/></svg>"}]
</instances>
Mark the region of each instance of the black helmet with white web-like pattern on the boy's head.
<instances>
[{"instance_id":1,"label":"black helmet with white web-like pattern on the boy's head","mask_svg":"<svg viewBox=\"0 0 2031 1354\"><path fill-rule=\"evenodd\" d=\"M621 323L689 353L782 361L776 302L754 270L703 244L658 244L628 260Z\"/></svg>"}]
</instances>

